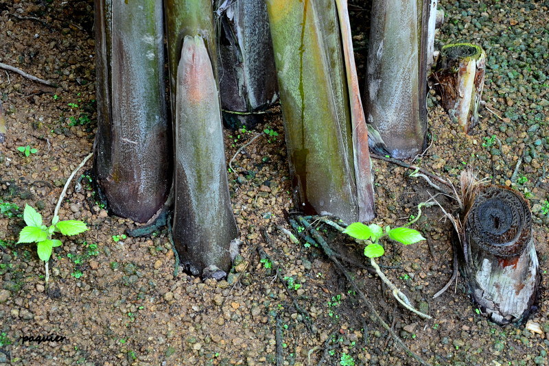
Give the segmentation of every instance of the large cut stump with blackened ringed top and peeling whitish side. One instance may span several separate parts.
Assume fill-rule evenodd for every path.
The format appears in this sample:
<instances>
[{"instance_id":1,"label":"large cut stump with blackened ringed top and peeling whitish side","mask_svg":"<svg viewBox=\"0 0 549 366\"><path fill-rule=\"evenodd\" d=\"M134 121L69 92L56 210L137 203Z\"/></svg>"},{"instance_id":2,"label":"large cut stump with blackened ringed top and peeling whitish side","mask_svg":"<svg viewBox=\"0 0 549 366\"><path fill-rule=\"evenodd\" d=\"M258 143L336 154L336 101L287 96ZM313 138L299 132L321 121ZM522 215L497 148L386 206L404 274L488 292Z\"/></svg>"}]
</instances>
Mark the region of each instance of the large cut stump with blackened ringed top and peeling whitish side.
<instances>
[{"instance_id":1,"label":"large cut stump with blackened ringed top and peeling whitish side","mask_svg":"<svg viewBox=\"0 0 549 366\"><path fill-rule=\"evenodd\" d=\"M529 204L505 186L476 186L469 197L460 267L470 295L495 323L526 321L539 284Z\"/></svg>"}]
</instances>

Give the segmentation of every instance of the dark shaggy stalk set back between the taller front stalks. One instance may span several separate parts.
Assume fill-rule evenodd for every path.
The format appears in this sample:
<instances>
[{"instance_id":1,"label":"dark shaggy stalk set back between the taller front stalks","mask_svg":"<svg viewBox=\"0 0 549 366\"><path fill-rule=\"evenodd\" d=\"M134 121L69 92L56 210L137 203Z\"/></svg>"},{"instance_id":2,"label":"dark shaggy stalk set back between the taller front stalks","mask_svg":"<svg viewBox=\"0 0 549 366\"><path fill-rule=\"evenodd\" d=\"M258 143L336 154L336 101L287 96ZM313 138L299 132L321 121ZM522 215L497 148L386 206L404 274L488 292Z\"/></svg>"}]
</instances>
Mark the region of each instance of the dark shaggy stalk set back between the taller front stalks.
<instances>
[{"instance_id":1,"label":"dark shaggy stalk set back between the taller front stalks","mask_svg":"<svg viewBox=\"0 0 549 366\"><path fill-rule=\"evenodd\" d=\"M264 1L217 0L219 82L223 118L253 127L278 99L277 72Z\"/></svg>"}]
</instances>

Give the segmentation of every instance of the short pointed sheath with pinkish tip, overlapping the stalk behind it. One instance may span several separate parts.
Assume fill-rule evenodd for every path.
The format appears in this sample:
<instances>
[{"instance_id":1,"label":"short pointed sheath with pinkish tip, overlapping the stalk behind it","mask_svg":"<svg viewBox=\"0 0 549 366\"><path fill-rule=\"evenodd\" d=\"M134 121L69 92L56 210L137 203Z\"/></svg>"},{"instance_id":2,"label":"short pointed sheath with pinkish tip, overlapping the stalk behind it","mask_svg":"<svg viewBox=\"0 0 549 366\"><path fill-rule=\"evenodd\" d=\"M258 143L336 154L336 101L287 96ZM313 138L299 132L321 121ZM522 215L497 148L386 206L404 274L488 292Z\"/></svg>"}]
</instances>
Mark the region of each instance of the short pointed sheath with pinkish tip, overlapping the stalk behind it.
<instances>
[{"instance_id":1,"label":"short pointed sheath with pinkish tip, overlapping the stalk behind it","mask_svg":"<svg viewBox=\"0 0 549 366\"><path fill-rule=\"evenodd\" d=\"M177 74L174 243L194 275L228 272L237 237L226 176L218 86L201 36L185 36Z\"/></svg>"}]
</instances>

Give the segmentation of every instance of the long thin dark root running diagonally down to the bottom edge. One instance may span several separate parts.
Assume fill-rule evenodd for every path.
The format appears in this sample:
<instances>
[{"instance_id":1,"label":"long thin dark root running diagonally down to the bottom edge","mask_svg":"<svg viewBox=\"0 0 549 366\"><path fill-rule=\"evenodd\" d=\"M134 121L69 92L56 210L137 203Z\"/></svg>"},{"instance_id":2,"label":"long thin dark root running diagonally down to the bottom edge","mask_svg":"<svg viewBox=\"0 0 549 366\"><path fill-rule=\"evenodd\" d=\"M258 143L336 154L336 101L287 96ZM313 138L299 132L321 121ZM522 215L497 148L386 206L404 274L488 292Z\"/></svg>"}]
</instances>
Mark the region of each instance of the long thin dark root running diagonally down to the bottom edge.
<instances>
[{"instance_id":1,"label":"long thin dark root running diagonally down to the bottom edge","mask_svg":"<svg viewBox=\"0 0 549 366\"><path fill-rule=\"evenodd\" d=\"M421 356L419 356L419 355L415 354L414 352L412 352L410 350L410 348L408 348L408 346L402 341L402 339L400 339L400 337L395 333L395 331L390 328L390 326L386 323L386 321L383 320L381 315L379 315L379 313L377 313L377 310L375 310L375 307L373 306L372 302L366 297L366 295L364 295L364 293L362 292L362 290L360 289L358 284L356 284L355 280L353 280L353 276L351 276L351 274L347 271L347 269L345 269L345 267L340 263L338 258L336 258L336 256L334 256L334 251L329 247L329 245L326 243L326 241L323 239L323 237L320 235L320 233L318 233L316 230L311 230L311 234L312 234L312 236L314 236L314 239L320 244L320 247L322 247L323 251L328 256L328 258L330 258L330 260L332 262L334 262L334 264L336 265L336 267L338 267L340 272L343 273L345 278L347 278L347 281L349 281L351 286L353 286L353 289L355 289L355 292L360 296L360 299L364 302L364 304L366 304L366 306L369 308L369 310L371 310L371 312L373 314L373 317L377 320L377 322L385 330L387 330L390 333L391 337L393 337L395 342L398 345L400 345L407 354L409 354L416 361L421 363L421 365L430 366L431 365L430 363L423 360L423 358L421 358Z\"/></svg>"}]
</instances>

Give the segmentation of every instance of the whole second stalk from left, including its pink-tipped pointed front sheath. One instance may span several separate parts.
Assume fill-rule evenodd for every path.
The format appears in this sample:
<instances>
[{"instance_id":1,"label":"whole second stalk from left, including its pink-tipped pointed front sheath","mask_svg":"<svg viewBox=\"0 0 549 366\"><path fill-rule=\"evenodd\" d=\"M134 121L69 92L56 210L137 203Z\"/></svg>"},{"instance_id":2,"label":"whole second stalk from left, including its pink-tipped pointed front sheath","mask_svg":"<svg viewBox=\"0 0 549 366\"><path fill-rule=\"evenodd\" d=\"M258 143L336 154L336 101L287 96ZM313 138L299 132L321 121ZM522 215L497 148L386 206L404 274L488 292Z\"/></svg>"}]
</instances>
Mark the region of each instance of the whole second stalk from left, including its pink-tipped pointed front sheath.
<instances>
[{"instance_id":1,"label":"whole second stalk from left, including its pink-tipped pointed front sheath","mask_svg":"<svg viewBox=\"0 0 549 366\"><path fill-rule=\"evenodd\" d=\"M221 278L231 267L229 247L238 230L226 175L211 2L167 0L165 8L174 120L174 244L187 271Z\"/></svg>"}]
</instances>

